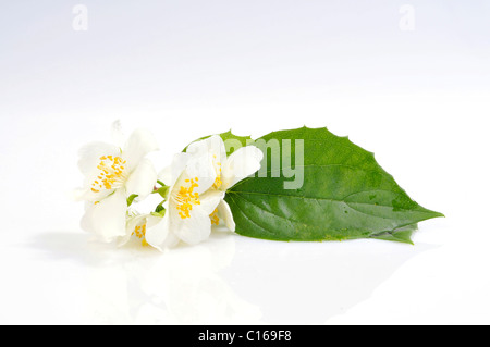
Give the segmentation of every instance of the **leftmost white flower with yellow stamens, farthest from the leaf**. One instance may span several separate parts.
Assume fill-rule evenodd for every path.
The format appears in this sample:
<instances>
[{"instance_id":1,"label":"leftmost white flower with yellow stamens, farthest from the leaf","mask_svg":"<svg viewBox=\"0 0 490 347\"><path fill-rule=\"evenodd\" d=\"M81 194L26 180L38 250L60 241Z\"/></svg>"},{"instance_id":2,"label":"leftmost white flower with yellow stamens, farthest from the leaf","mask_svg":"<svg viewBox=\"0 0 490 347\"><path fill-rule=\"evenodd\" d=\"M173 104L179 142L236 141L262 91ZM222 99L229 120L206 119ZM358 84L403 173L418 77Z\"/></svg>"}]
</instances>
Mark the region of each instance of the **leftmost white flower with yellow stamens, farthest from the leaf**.
<instances>
[{"instance_id":1,"label":"leftmost white flower with yellow stamens, farthest from the leaf","mask_svg":"<svg viewBox=\"0 0 490 347\"><path fill-rule=\"evenodd\" d=\"M157 148L148 131L137 129L122 148L91 142L79 150L78 168L85 183L77 198L87 201L84 230L105 241L126 235L127 198L137 195L136 199L143 200L152 191L157 174L145 156Z\"/></svg>"}]
</instances>

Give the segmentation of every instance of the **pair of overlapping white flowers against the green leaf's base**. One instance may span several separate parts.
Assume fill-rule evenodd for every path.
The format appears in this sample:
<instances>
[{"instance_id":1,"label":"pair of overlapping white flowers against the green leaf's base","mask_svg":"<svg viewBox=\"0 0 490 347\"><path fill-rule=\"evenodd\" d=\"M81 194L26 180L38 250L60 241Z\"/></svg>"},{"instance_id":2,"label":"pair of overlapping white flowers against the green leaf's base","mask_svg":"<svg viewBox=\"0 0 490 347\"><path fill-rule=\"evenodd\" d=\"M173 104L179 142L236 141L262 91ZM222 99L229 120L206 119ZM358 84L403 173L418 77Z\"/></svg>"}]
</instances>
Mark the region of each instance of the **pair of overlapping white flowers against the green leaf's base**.
<instances>
[{"instance_id":1,"label":"pair of overlapping white flowers against the green leaf's base","mask_svg":"<svg viewBox=\"0 0 490 347\"><path fill-rule=\"evenodd\" d=\"M232 232L235 223L223 200L226 189L260 169L262 152L255 146L237 149L226 158L220 136L194 142L185 153L175 154L160 179L170 185L167 212L158 226L146 233L147 241L159 249L175 237L191 245L208 238L211 224L220 220Z\"/></svg>"}]
</instances>

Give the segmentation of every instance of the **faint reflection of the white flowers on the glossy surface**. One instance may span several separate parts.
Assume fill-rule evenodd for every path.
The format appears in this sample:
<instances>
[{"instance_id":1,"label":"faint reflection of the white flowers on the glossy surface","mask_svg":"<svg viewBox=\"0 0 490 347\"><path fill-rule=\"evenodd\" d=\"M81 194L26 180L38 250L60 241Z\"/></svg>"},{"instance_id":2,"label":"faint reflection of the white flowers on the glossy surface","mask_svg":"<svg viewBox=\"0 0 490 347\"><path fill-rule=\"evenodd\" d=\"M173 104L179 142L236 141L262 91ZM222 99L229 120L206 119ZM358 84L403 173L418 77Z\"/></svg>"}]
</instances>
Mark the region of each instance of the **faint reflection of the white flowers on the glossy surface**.
<instances>
[{"instance_id":1,"label":"faint reflection of the white flowers on the glossy surface","mask_svg":"<svg viewBox=\"0 0 490 347\"><path fill-rule=\"evenodd\" d=\"M260 323L260 310L237 297L219 272L230 265L235 240L216 235L164 255L120 249L124 255L88 275L90 319L100 323ZM112 251L111 251L112 253Z\"/></svg>"}]
</instances>

